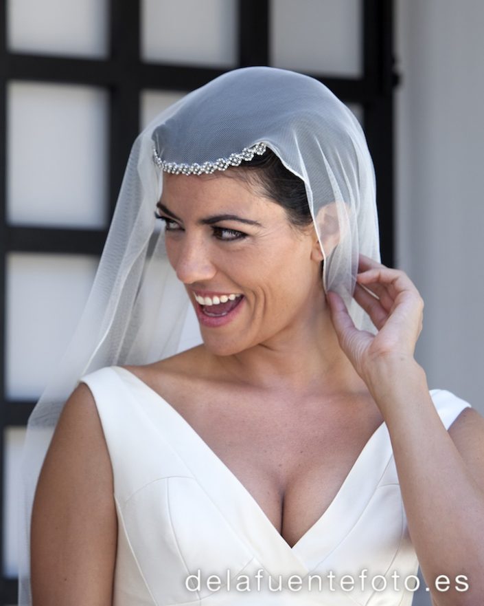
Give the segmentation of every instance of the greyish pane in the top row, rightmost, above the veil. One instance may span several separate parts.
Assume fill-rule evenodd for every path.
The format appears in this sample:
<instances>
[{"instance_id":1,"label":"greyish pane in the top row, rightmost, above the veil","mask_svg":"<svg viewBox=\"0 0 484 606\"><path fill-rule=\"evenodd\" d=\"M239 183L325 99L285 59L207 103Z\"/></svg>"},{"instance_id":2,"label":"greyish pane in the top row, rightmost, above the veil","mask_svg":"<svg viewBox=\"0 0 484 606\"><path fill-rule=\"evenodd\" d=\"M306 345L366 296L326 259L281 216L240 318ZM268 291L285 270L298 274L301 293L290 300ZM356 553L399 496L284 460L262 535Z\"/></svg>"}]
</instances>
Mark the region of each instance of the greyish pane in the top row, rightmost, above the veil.
<instances>
[{"instance_id":1,"label":"greyish pane in the top row, rightmost, above the veil","mask_svg":"<svg viewBox=\"0 0 484 606\"><path fill-rule=\"evenodd\" d=\"M361 75L361 0L273 0L270 16L275 67Z\"/></svg>"}]
</instances>

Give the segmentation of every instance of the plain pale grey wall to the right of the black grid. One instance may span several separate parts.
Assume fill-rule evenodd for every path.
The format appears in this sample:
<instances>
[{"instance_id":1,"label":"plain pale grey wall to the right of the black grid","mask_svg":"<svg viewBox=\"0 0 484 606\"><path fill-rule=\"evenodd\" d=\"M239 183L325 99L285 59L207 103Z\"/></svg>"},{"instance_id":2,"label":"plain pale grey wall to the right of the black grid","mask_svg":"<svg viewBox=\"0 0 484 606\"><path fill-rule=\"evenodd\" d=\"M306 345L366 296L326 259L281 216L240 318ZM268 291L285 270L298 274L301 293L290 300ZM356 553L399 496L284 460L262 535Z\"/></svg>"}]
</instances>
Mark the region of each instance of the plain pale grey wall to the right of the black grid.
<instances>
[{"instance_id":1,"label":"plain pale grey wall to the right of the black grid","mask_svg":"<svg viewBox=\"0 0 484 606\"><path fill-rule=\"evenodd\" d=\"M426 303L431 388L484 413L482 0L397 0L397 266Z\"/></svg>"}]
</instances>

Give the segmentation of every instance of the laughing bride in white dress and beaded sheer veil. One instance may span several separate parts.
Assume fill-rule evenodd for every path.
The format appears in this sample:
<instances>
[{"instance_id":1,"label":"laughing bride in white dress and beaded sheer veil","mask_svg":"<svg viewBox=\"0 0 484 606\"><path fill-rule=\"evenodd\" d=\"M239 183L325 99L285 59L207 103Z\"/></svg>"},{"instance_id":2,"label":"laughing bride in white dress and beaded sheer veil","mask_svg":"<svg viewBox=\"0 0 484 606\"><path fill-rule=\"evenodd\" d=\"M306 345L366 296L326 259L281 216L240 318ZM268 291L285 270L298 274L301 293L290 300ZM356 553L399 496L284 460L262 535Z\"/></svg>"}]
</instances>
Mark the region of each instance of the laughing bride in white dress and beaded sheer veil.
<instances>
[{"instance_id":1,"label":"laughing bride in white dress and beaded sheer veil","mask_svg":"<svg viewBox=\"0 0 484 606\"><path fill-rule=\"evenodd\" d=\"M484 420L429 393L422 308L323 85L238 69L163 112L30 420L34 606L402 606L418 563L435 605L479 603Z\"/></svg>"}]
</instances>

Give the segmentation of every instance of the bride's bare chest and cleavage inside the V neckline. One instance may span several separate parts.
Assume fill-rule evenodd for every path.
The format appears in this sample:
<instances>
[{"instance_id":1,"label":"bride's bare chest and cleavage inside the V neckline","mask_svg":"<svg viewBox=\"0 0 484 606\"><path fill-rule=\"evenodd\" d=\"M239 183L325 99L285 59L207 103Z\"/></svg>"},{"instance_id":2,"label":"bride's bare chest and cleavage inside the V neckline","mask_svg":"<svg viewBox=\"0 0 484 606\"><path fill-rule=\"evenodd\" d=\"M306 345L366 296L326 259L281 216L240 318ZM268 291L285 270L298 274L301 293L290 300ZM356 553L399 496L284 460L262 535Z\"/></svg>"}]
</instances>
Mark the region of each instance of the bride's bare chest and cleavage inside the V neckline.
<instances>
[{"instance_id":1,"label":"bride's bare chest and cleavage inside the V neckline","mask_svg":"<svg viewBox=\"0 0 484 606\"><path fill-rule=\"evenodd\" d=\"M321 518L382 417L306 402L279 407L217 398L179 412L292 547Z\"/></svg>"}]
</instances>

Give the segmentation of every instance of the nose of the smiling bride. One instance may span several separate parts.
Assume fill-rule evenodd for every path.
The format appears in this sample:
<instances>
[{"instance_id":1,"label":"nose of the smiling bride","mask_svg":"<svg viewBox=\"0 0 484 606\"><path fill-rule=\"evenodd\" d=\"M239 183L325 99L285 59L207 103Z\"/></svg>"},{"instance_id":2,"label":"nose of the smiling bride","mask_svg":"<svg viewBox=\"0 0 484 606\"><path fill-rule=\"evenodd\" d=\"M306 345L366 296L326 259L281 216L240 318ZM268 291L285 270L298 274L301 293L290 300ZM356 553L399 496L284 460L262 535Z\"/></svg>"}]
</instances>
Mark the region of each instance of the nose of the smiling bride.
<instances>
[{"instance_id":1,"label":"nose of the smiling bride","mask_svg":"<svg viewBox=\"0 0 484 606\"><path fill-rule=\"evenodd\" d=\"M172 266L176 276L184 284L207 281L216 274L211 259L210 246L199 237L189 237L187 233L176 243L172 251Z\"/></svg>"}]
</instances>

